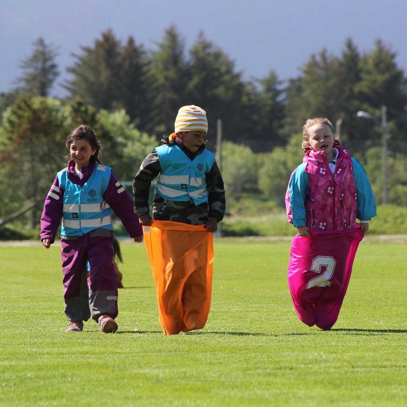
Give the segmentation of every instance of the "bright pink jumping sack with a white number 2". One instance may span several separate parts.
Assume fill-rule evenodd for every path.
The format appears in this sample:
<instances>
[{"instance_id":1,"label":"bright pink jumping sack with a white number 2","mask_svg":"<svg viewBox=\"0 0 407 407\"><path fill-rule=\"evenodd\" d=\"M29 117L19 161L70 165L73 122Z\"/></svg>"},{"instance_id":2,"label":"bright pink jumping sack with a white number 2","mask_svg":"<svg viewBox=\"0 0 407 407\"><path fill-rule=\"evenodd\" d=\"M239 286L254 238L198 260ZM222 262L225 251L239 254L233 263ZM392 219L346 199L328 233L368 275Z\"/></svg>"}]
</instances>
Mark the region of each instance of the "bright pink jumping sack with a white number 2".
<instances>
[{"instance_id":1,"label":"bright pink jumping sack with a white number 2","mask_svg":"<svg viewBox=\"0 0 407 407\"><path fill-rule=\"evenodd\" d=\"M335 324L362 239L359 225L347 231L295 235L287 278L295 312L304 324L322 329Z\"/></svg>"}]
</instances>

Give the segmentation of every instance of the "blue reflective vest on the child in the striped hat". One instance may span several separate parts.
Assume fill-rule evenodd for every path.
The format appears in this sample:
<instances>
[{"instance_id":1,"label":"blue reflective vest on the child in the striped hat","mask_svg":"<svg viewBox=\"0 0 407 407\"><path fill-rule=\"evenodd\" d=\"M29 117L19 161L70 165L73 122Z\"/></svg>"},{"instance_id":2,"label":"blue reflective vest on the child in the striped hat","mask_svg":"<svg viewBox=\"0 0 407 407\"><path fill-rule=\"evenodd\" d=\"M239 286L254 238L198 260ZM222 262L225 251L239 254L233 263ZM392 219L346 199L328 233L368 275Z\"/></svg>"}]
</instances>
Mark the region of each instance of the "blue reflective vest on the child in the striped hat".
<instances>
[{"instance_id":1,"label":"blue reflective vest on the child in the striped hat","mask_svg":"<svg viewBox=\"0 0 407 407\"><path fill-rule=\"evenodd\" d=\"M215 161L213 153L204 150L191 161L177 145L164 144L155 151L161 165L156 194L171 201L189 201L192 198L195 205L208 200L205 173L210 171Z\"/></svg>"}]
</instances>

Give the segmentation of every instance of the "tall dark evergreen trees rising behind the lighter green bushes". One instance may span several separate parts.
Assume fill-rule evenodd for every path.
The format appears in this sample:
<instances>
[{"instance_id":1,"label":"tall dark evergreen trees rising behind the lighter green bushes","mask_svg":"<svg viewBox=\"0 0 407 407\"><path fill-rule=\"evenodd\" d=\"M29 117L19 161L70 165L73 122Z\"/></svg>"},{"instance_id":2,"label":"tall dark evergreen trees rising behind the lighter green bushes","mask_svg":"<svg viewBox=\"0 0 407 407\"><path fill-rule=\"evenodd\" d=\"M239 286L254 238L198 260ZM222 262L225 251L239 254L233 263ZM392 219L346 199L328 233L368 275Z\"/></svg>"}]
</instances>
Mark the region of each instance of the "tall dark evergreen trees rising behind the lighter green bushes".
<instances>
[{"instance_id":1,"label":"tall dark evergreen trees rising behind the lighter green bushes","mask_svg":"<svg viewBox=\"0 0 407 407\"><path fill-rule=\"evenodd\" d=\"M20 86L1 94L0 112L21 92L49 94L59 74L56 55L57 49L44 39L35 42L33 54L20 66ZM179 107L195 104L208 113L213 146L217 118L222 120L225 140L258 152L286 145L307 118L323 116L337 123L346 147L363 153L380 144L381 129L356 113L364 110L380 119L385 105L389 149L407 151L407 80L397 67L396 53L380 40L369 52L360 52L351 39L340 56L323 49L287 82L273 70L265 78L243 81L232 59L203 33L187 52L174 26L155 50L146 50L132 37L122 44L107 30L92 46L82 46L72 55L74 63L66 68L71 79L63 83L70 100L96 110L125 109L138 130L158 139L173 131Z\"/></svg>"}]
</instances>

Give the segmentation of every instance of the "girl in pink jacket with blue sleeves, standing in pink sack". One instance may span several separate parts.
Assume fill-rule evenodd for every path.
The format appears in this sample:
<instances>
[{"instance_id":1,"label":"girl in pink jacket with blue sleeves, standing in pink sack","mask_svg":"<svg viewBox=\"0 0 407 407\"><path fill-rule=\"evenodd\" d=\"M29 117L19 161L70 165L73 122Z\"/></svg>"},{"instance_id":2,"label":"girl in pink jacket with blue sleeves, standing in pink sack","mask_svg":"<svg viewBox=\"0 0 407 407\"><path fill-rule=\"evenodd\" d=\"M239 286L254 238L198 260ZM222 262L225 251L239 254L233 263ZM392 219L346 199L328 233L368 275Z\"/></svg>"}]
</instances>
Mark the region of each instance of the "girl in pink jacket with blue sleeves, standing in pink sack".
<instances>
[{"instance_id":1,"label":"girl in pink jacket with blue sleeves, standing in pink sack","mask_svg":"<svg viewBox=\"0 0 407 407\"><path fill-rule=\"evenodd\" d=\"M289 222L298 229L291 245L289 289L302 322L330 329L376 205L365 170L341 147L328 119L306 121L302 148L303 163L291 175L286 194Z\"/></svg>"}]
</instances>

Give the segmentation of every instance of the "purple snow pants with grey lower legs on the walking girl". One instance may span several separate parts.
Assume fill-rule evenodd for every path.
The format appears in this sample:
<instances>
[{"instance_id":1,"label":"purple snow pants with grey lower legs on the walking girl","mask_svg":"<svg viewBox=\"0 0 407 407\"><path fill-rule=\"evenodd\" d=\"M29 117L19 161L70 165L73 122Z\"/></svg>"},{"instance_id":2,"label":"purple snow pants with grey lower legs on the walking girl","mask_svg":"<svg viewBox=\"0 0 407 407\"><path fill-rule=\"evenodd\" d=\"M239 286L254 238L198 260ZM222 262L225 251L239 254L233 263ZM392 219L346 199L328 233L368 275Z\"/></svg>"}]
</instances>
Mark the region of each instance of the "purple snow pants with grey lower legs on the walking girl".
<instances>
[{"instance_id":1,"label":"purple snow pants with grey lower legs on the walking girl","mask_svg":"<svg viewBox=\"0 0 407 407\"><path fill-rule=\"evenodd\" d=\"M70 239L61 236L63 300L69 321L87 321L92 317L97 322L104 314L117 317L112 243L113 232L109 230L96 229L83 236L70 236ZM87 284L88 261L90 289Z\"/></svg>"}]
</instances>

